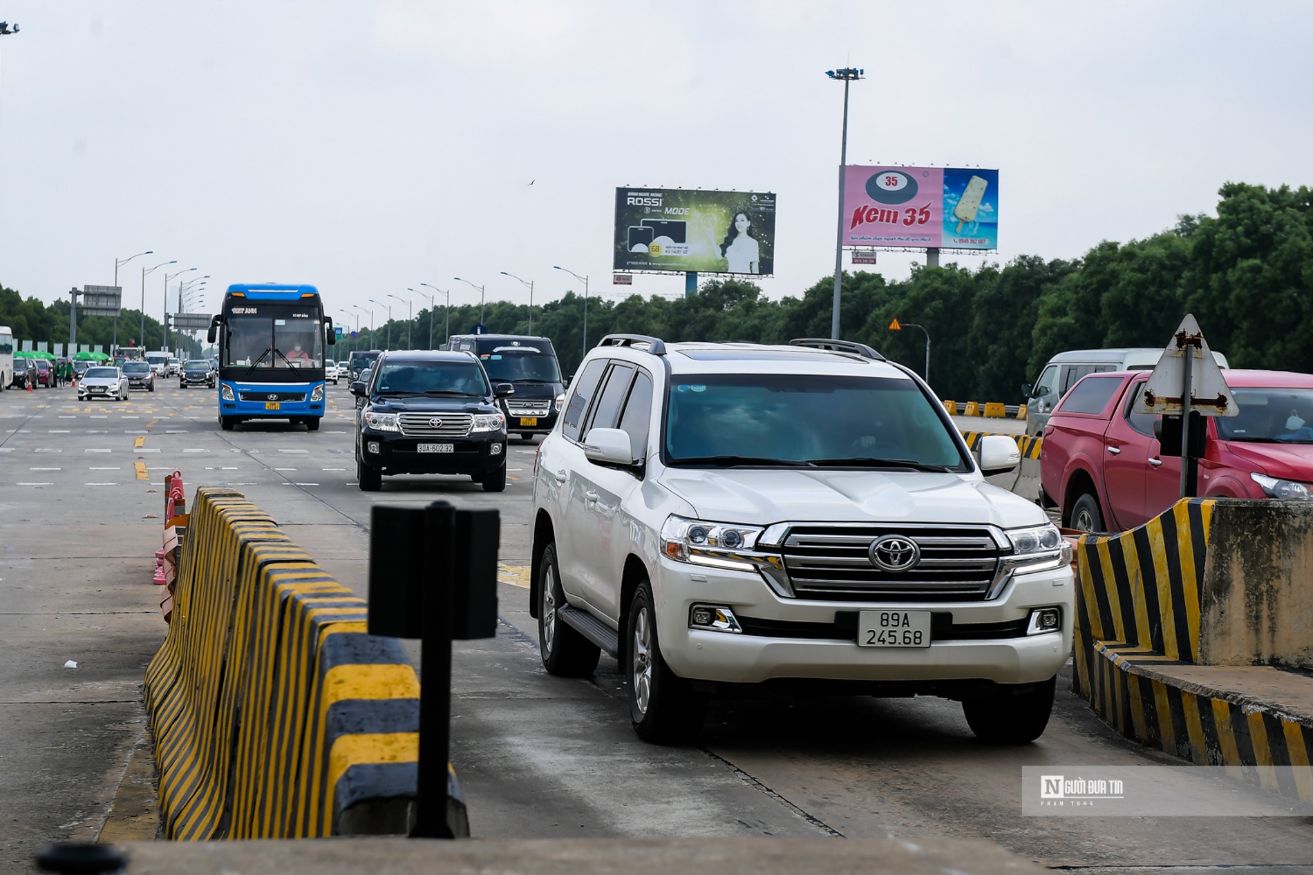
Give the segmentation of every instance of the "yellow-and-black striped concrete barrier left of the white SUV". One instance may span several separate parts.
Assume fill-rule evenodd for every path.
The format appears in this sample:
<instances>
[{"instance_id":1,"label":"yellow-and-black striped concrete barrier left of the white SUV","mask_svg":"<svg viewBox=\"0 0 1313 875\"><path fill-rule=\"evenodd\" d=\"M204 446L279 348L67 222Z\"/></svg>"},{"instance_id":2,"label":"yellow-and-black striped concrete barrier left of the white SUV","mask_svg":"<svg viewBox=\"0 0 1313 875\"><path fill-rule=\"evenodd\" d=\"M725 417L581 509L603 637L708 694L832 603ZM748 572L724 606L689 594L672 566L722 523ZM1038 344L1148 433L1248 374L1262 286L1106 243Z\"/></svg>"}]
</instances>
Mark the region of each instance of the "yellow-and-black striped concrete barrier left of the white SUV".
<instances>
[{"instance_id":1,"label":"yellow-and-black striped concrete barrier left of the white SUV","mask_svg":"<svg viewBox=\"0 0 1313 875\"><path fill-rule=\"evenodd\" d=\"M404 833L419 681L366 605L231 489L197 491L146 673L168 838Z\"/></svg>"}]
</instances>

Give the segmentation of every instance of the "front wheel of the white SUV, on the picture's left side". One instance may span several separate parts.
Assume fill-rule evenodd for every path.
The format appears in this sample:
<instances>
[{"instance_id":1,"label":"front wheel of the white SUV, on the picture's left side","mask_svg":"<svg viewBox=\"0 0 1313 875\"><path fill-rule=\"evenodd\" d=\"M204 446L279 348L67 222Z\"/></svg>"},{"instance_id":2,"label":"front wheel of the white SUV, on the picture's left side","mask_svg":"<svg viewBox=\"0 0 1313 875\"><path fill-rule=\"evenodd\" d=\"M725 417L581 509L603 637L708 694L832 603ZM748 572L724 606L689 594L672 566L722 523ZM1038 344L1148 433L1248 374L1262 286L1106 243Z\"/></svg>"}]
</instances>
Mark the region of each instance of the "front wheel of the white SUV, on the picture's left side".
<instances>
[{"instance_id":1,"label":"front wheel of the white SUV, on the picture's left side","mask_svg":"<svg viewBox=\"0 0 1313 875\"><path fill-rule=\"evenodd\" d=\"M625 653L629 718L651 744L693 741L706 719L706 695L675 674L660 655L651 585L645 580L629 602Z\"/></svg>"}]
</instances>

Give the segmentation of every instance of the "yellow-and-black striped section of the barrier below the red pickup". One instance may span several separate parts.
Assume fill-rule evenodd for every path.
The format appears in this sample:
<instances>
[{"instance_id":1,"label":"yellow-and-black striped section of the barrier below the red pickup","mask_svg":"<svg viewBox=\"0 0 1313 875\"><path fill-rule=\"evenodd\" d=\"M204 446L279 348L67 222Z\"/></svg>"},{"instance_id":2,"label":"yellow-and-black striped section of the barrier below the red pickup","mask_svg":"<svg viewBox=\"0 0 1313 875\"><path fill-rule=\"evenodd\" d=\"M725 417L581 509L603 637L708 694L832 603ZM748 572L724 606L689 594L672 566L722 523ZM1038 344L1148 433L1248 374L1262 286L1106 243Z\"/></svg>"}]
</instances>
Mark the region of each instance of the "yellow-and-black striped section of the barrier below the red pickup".
<instances>
[{"instance_id":1,"label":"yellow-and-black striped section of the barrier below the red pickup","mask_svg":"<svg viewBox=\"0 0 1313 875\"><path fill-rule=\"evenodd\" d=\"M1250 502L1226 510L1237 504ZM1132 531L1081 538L1073 686L1127 737L1199 765L1250 766L1270 790L1313 802L1313 779L1266 769L1309 766L1313 715L1230 689L1233 666L1200 665L1221 589L1209 577L1222 564L1209 555L1216 505L1186 499Z\"/></svg>"}]
</instances>

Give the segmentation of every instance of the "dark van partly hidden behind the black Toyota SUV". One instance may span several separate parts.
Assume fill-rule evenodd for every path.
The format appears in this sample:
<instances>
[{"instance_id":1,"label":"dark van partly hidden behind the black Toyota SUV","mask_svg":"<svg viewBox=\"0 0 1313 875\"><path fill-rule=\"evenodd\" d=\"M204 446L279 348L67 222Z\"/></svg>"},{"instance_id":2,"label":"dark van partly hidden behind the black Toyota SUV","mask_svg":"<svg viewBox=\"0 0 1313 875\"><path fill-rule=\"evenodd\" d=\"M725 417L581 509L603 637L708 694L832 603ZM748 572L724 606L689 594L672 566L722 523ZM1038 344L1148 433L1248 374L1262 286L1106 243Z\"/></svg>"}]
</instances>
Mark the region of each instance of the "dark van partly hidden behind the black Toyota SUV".
<instances>
[{"instance_id":1,"label":"dark van partly hidden behind the black Toyota SUV","mask_svg":"<svg viewBox=\"0 0 1313 875\"><path fill-rule=\"evenodd\" d=\"M566 387L550 340L525 335L454 335L449 348L473 353L494 384L515 386L515 395L500 400L507 432L532 438L557 424Z\"/></svg>"}]
</instances>

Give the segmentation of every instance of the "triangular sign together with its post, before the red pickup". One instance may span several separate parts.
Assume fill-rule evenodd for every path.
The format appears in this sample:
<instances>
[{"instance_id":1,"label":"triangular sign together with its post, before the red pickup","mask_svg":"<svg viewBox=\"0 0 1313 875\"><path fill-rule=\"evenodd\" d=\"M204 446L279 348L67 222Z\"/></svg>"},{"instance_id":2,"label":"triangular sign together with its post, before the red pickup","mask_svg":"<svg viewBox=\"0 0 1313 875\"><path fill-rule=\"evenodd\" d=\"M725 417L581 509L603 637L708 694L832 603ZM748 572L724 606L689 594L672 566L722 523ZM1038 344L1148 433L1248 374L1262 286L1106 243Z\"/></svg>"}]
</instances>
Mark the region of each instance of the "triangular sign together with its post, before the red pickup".
<instances>
[{"instance_id":1,"label":"triangular sign together with its post, before the red pickup","mask_svg":"<svg viewBox=\"0 0 1313 875\"><path fill-rule=\"evenodd\" d=\"M1180 395L1174 395L1176 388ZM1191 434L1197 430L1191 420L1199 416L1238 416L1239 405L1222 376L1217 359L1208 349L1204 332L1192 314L1186 314L1171 342L1154 366L1149 382L1136 399L1136 413L1159 413L1165 428L1159 441L1170 442L1175 429L1166 428L1166 420L1180 421L1180 497L1191 497L1197 491L1197 453L1203 446L1192 446ZM1194 453L1191 451L1194 450ZM1163 455L1175 455L1163 451Z\"/></svg>"}]
</instances>

